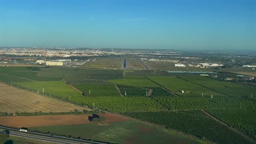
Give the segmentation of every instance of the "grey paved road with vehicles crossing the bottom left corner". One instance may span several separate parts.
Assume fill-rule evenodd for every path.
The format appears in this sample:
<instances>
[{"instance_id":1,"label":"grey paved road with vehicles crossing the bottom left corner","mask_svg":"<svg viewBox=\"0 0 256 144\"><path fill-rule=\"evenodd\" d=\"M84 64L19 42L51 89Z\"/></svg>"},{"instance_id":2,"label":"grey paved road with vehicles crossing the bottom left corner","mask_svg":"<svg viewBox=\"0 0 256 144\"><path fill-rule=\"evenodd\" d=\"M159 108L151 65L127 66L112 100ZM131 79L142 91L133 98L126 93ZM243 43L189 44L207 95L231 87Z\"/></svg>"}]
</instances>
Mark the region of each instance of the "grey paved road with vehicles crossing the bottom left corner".
<instances>
[{"instance_id":1,"label":"grey paved road with vehicles crossing the bottom left corner","mask_svg":"<svg viewBox=\"0 0 256 144\"><path fill-rule=\"evenodd\" d=\"M11 127L5 127L1 126L2 129L7 129L10 131L10 135L12 136L19 136L19 137L25 137L28 139L34 139L34 140L40 140L40 141L47 141L47 142L54 142L54 143L64 143L64 144L106 144L104 142L95 142L95 141L88 141L88 140L79 140L79 139L73 139L70 137L64 137L64 136L55 136L55 135L48 135L48 134L41 134L36 133L33 131L28 132L21 132L18 128L11 128Z\"/></svg>"}]
</instances>

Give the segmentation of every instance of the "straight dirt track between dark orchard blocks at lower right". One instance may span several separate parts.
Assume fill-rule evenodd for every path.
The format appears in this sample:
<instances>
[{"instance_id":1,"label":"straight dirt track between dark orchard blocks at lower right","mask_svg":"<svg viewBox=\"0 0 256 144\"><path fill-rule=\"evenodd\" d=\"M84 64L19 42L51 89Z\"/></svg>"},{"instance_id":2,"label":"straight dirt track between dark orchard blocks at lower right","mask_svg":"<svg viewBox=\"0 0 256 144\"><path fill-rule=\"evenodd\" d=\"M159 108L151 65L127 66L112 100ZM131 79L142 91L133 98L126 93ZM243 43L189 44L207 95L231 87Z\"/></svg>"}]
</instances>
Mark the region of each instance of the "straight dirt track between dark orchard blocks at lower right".
<instances>
[{"instance_id":1,"label":"straight dirt track between dark orchard blocks at lower right","mask_svg":"<svg viewBox=\"0 0 256 144\"><path fill-rule=\"evenodd\" d=\"M241 131L236 130L235 128L230 127L229 124L223 122L221 119L217 118L216 116L212 115L211 113L208 113L205 110L201 110L203 113L205 113L206 115L210 116L212 119L214 119L214 121L217 121L220 124L225 125L226 127L228 127L230 130L234 131L235 133L237 133L238 135L245 137L245 139L247 139L248 141L252 142L252 143L256 143L255 140L253 140L251 137L243 134Z\"/></svg>"}]
</instances>

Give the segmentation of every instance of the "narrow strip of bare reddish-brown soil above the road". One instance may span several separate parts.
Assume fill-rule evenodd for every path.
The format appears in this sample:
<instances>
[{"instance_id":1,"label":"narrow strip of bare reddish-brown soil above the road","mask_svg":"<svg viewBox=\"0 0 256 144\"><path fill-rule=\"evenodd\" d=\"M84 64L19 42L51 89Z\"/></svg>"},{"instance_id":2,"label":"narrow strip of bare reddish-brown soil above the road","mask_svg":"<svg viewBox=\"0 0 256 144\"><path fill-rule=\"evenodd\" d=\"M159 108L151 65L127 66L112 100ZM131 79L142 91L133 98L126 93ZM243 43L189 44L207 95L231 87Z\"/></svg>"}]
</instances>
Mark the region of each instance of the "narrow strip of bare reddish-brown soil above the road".
<instances>
[{"instance_id":1,"label":"narrow strip of bare reddish-brown soil above the road","mask_svg":"<svg viewBox=\"0 0 256 144\"><path fill-rule=\"evenodd\" d=\"M114 113L100 113L98 115L106 117L106 122L130 121L129 118ZM91 123L88 119L89 116L92 116L92 114L53 116L9 116L0 117L0 124L18 128L44 127L50 125L84 124Z\"/></svg>"}]
</instances>

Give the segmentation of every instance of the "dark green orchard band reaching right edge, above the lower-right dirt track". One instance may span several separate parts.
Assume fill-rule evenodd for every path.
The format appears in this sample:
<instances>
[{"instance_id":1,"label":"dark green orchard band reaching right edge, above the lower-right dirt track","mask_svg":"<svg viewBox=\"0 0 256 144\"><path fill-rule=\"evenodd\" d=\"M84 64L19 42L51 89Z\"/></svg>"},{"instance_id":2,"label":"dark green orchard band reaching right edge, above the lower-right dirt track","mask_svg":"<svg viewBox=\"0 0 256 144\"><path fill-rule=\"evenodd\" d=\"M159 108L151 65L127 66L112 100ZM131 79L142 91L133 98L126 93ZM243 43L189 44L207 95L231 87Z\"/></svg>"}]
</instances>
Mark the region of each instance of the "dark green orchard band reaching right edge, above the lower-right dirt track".
<instances>
[{"instance_id":1,"label":"dark green orchard band reaching right edge, above the lower-right dirt track","mask_svg":"<svg viewBox=\"0 0 256 144\"><path fill-rule=\"evenodd\" d=\"M201 109L249 109L256 111L256 103L251 100L230 97L152 97L170 110Z\"/></svg>"}]
</instances>

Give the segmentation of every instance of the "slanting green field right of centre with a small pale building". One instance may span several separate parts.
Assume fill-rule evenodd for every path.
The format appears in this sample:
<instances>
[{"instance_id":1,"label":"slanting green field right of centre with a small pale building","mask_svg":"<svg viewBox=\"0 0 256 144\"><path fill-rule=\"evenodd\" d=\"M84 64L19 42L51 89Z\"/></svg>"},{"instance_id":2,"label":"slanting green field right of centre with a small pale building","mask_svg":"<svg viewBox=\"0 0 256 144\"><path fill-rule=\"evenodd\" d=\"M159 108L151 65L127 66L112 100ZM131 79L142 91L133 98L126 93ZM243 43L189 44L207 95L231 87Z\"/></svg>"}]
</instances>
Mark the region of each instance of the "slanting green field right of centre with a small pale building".
<instances>
[{"instance_id":1,"label":"slanting green field right of centre with a small pale building","mask_svg":"<svg viewBox=\"0 0 256 144\"><path fill-rule=\"evenodd\" d=\"M150 80L153 80L159 85L167 88L168 90L181 95L182 97L214 97L222 96L223 94L211 91L208 88L196 85L194 83L179 79L174 76L147 76ZM182 93L181 91L184 91Z\"/></svg>"}]
</instances>

